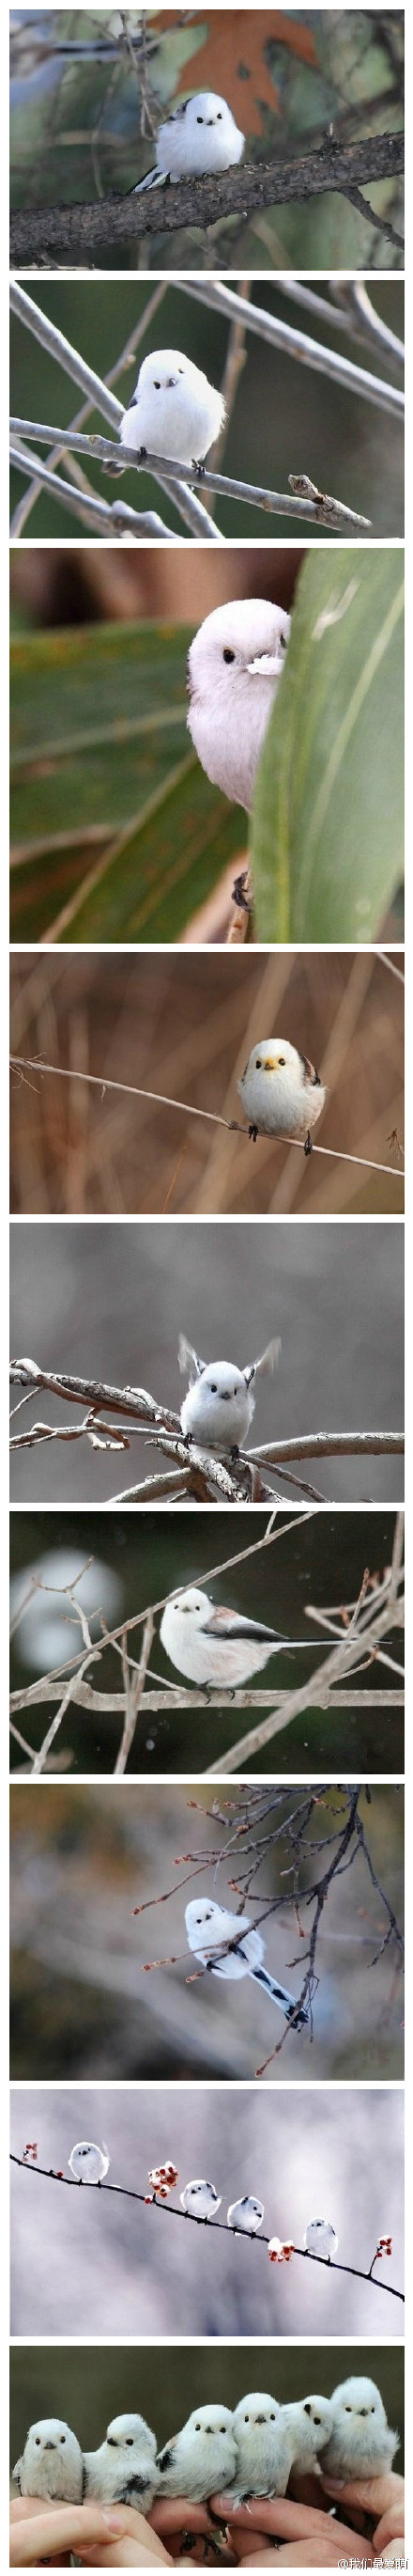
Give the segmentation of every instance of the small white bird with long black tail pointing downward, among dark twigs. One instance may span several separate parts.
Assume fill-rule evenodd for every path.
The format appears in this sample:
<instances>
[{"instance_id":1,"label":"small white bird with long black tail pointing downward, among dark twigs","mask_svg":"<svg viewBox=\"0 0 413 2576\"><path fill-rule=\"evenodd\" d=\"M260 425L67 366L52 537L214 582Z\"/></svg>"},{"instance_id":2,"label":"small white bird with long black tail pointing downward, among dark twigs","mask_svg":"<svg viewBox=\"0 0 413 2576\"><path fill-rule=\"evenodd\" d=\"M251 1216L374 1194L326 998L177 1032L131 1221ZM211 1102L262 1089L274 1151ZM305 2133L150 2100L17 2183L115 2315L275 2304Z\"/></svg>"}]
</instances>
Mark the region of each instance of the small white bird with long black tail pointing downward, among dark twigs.
<instances>
[{"instance_id":1,"label":"small white bird with long black tail pointing downward, among dark twigs","mask_svg":"<svg viewBox=\"0 0 413 2576\"><path fill-rule=\"evenodd\" d=\"M269 1976L262 1965L264 1940L262 1932L249 1929L249 1914L231 1914L213 1896L192 1896L190 1906L185 1906L185 1927L187 1947L200 1958L203 1968L226 1978L254 1976L257 1986L264 1986L264 1994L272 1994L272 2002L280 2004L285 2022L295 2020L298 2030L308 2022L308 2012L303 2007L298 2012L287 1986L280 1986L277 1976ZM236 1950L228 1950L228 1942L236 1942Z\"/></svg>"}]
</instances>

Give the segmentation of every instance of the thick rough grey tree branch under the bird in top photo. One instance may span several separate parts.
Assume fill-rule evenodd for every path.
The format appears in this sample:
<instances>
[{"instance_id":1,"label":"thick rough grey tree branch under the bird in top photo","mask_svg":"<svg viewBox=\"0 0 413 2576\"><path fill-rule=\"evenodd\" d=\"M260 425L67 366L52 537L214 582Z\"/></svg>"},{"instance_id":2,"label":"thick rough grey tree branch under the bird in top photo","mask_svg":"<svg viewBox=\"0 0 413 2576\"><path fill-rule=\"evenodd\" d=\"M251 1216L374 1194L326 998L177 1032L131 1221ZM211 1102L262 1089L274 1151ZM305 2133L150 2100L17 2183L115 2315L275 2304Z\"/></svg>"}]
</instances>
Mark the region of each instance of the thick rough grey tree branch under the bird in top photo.
<instances>
[{"instance_id":1,"label":"thick rough grey tree branch under the bird in top photo","mask_svg":"<svg viewBox=\"0 0 413 2576\"><path fill-rule=\"evenodd\" d=\"M131 191L131 196L100 198L95 206L21 209L10 216L10 268L67 250L82 252L87 263L87 255L115 242L182 232L187 224L208 229L226 214L246 216L262 206L290 206L331 191L349 196L351 188L398 178L403 167L405 137L369 134L346 149L328 142L321 152L300 155L300 160L254 162L246 170L226 170L223 178L182 180L177 188L162 191L162 204L159 191L154 196L151 191L146 196ZM369 224L372 209L362 201L359 211ZM392 232L392 242L403 250L400 234Z\"/></svg>"}]
</instances>

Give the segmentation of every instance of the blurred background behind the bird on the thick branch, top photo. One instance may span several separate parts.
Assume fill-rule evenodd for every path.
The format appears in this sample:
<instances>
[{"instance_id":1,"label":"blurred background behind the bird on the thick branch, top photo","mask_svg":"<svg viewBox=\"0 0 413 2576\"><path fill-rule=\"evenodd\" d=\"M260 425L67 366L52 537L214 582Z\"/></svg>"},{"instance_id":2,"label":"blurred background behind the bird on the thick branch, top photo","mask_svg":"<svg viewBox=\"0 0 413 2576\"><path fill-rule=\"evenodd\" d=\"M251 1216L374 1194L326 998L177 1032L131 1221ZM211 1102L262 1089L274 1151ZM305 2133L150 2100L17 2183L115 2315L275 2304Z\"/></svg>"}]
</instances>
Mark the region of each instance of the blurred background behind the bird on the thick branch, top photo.
<instances>
[{"instance_id":1,"label":"blurred background behind the bird on the thick branch, top photo","mask_svg":"<svg viewBox=\"0 0 413 2576\"><path fill-rule=\"evenodd\" d=\"M239 26L241 21L241 26ZM228 98L246 160L285 160L403 126L403 10L41 10L10 13L10 201L72 204L133 188L154 131L192 90ZM403 229L403 180L372 188ZM121 245L136 265L400 268L403 252L341 196L274 206L205 232ZM97 265L118 265L105 250Z\"/></svg>"}]
</instances>

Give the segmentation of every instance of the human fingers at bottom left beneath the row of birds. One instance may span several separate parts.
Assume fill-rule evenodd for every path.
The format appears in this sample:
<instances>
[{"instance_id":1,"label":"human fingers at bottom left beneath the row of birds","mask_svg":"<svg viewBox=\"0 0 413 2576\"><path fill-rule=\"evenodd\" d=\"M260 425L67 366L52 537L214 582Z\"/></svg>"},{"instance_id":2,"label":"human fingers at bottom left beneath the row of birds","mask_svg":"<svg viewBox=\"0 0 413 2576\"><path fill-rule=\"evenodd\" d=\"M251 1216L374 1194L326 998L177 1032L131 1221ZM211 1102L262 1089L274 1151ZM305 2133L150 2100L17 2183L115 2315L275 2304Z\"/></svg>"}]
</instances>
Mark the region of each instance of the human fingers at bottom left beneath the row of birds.
<instances>
[{"instance_id":1,"label":"human fingers at bottom left beneath the row of birds","mask_svg":"<svg viewBox=\"0 0 413 2576\"><path fill-rule=\"evenodd\" d=\"M36 2568L44 2561L69 2566L69 2555L95 2568L156 2568L174 2561L131 2506L46 2504L44 2496L18 2496L10 2506L10 2568Z\"/></svg>"}]
</instances>

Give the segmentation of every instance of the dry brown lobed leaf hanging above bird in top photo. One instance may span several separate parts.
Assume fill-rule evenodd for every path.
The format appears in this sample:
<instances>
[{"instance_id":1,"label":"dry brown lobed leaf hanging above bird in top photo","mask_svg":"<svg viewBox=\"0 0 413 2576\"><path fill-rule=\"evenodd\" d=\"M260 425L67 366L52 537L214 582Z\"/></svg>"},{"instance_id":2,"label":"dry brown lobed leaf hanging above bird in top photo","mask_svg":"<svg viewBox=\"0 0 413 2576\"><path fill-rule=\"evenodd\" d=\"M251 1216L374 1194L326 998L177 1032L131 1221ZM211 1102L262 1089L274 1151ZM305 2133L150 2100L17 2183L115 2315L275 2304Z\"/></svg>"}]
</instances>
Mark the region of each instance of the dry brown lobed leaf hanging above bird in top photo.
<instances>
[{"instance_id":1,"label":"dry brown lobed leaf hanging above bird in top photo","mask_svg":"<svg viewBox=\"0 0 413 2576\"><path fill-rule=\"evenodd\" d=\"M187 23L205 26L205 18L200 10L192 10ZM154 28L164 26L169 28L169 10L159 10L154 18ZM285 44L300 62L316 64L310 28L303 21L292 23L287 10L277 8L257 8L251 13L244 8L215 10L205 44L192 57L198 88L210 88L221 98L228 98L244 134L262 134L262 108L272 108L272 116L280 111L280 95L264 62L269 39ZM187 90L185 64L177 80L180 90Z\"/></svg>"}]
</instances>

